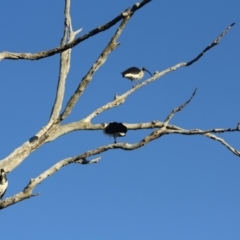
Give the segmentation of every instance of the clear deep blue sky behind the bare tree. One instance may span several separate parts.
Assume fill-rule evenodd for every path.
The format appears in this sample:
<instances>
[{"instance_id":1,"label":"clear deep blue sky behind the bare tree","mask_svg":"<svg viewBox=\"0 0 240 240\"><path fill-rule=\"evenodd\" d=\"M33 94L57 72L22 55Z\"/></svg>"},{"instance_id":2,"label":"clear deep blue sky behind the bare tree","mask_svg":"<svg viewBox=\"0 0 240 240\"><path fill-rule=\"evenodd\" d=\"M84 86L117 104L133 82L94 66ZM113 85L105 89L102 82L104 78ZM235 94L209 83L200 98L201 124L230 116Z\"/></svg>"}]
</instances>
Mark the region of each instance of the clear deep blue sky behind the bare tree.
<instances>
[{"instance_id":1,"label":"clear deep blue sky behind the bare tree","mask_svg":"<svg viewBox=\"0 0 240 240\"><path fill-rule=\"evenodd\" d=\"M133 0L72 1L74 29L100 26ZM203 58L131 95L94 123L163 121L192 102L171 123L191 129L235 127L240 120L240 2L157 1L138 11L121 45L95 74L66 122L77 121L131 88L120 72L131 66L161 71L189 61L228 25L236 25ZM38 52L59 45L64 1L8 0L1 5L0 51ZM116 26L76 46L64 103L109 42ZM46 124L55 97L59 55L39 61L0 62L2 147L0 158ZM135 143L151 130L129 131ZM240 149L240 134L220 135ZM5 197L57 161L112 143L101 131L81 131L44 145L8 175ZM38 197L1 211L4 239L240 239L240 159L203 136L168 135L125 152L108 151L94 165L69 165L35 192ZM4 229L4 231L3 231Z\"/></svg>"}]
</instances>

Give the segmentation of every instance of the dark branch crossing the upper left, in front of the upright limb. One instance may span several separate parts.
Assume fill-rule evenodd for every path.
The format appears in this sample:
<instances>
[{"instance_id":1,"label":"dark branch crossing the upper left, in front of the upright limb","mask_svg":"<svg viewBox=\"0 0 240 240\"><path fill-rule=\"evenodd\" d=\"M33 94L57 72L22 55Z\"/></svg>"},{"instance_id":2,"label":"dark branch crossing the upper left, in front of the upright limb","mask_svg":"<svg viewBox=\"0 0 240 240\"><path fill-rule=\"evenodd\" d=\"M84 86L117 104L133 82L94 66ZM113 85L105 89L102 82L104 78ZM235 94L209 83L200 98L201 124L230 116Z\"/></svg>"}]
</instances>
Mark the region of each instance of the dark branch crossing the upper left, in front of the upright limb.
<instances>
[{"instance_id":1,"label":"dark branch crossing the upper left, in front of the upright limb","mask_svg":"<svg viewBox=\"0 0 240 240\"><path fill-rule=\"evenodd\" d=\"M11 60L19 60L19 59L24 59L24 60L39 60L45 57L50 57L53 56L57 53L60 52L64 52L66 50L68 50L69 48L73 48L76 45L78 45L79 43L83 42L84 40L100 33L103 32L109 28L111 28L112 26L114 26L116 23L118 23L119 21L121 21L122 19L126 18L127 16L132 16L134 14L135 11L139 10L140 8L142 8L143 6L145 6L147 3L151 2L152 0L143 0L141 3L136 3L133 5L131 12L127 13L126 11L119 14L116 18L114 18L113 20L111 20L110 22L99 26L93 30L91 30L90 32L88 32L87 34L76 38L74 41L71 41L65 45L53 48L51 50L47 50L47 51L42 51L42 52L38 52L38 53L11 53L11 52L2 52L0 53L0 60L2 59L11 59Z\"/></svg>"}]
</instances>

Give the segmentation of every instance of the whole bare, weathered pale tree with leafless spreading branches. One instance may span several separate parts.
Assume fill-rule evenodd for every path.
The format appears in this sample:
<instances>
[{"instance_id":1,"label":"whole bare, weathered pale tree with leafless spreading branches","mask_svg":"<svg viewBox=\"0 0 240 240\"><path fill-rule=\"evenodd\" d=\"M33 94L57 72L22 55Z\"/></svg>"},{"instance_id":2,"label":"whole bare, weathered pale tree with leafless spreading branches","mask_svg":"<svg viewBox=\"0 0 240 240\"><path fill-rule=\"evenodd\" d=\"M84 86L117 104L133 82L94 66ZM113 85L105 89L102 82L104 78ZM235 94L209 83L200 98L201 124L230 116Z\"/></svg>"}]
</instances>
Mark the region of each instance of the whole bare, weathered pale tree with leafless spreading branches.
<instances>
[{"instance_id":1,"label":"whole bare, weathered pale tree with leafless spreading branches","mask_svg":"<svg viewBox=\"0 0 240 240\"><path fill-rule=\"evenodd\" d=\"M134 4L131 8L128 8L120 15L115 17L113 20L107 22L106 24L99 26L87 34L77 37L77 34L81 32L81 29L74 31L72 28L72 21L70 16L70 0L65 0L65 21L64 21L64 32L63 37L61 39L61 44L59 47L48 51L42 51L38 53L11 53L11 52L2 52L0 53L0 59L10 59L10 60L39 60L46 57L51 57L54 54L60 54L60 70L59 70L59 79L58 79L58 86L56 91L55 102L52 107L52 111L50 114L50 118L48 123L42 127L42 129L35 134L34 137L23 143L17 149L15 149L9 156L2 159L0 161L0 169L4 169L5 172L11 172L13 169L18 167L31 153L35 150L43 146L47 142L54 141L55 139L61 137L64 134L68 134L72 131L81 131L81 130L104 130L105 124L92 124L92 119L95 118L97 115L103 113L106 110L111 108L117 107L123 104L126 99L133 94L135 91L139 90L140 88L144 87L145 85L163 77L167 73L175 71L180 67L189 67L198 61L204 53L208 50L216 46L221 39L225 36L225 34L234 26L234 23L227 27L219 37L217 37L211 44L209 44L197 57L193 60L187 62L180 62L174 66L171 66L161 72L156 71L154 75L143 81L142 83L138 84L134 88L131 88L127 92L123 93L122 95L115 95L114 99L105 105L99 107L98 109L94 110L88 116L85 116L83 119L79 120L78 122L72 122L68 124L61 124L63 120L65 120L72 112L75 104L82 96L83 92L87 88L88 84L91 82L95 72L105 63L109 54L114 51L118 46L119 43L117 42L119 36L121 35L122 31L124 30L126 24L130 19L133 17L134 13L144 7L146 4L150 3L151 0L143 0L140 3ZM91 68L87 72L87 74L82 78L79 82L79 85L75 92L72 94L70 99L68 100L65 107L63 107L63 98L65 94L65 84L66 78L69 73L70 69L70 60L71 60L71 50L81 42L103 32L114 25L119 24L117 27L116 32L111 37L109 43L106 45L105 49L99 55L98 59L92 64ZM203 135L207 138L217 140L222 143L227 149L229 149L233 154L240 156L240 151L233 148L229 143L227 143L223 138L220 138L216 134L225 133L225 132L236 132L239 131L239 126L236 128L214 128L214 129L183 129L176 125L171 125L170 121L174 117L174 115L183 110L183 108L189 104L196 94L197 89L194 90L192 96L182 105L173 109L166 119L162 122L154 121L149 119L149 122L146 123L124 123L128 130L141 130L141 129L153 129L152 133L146 135L141 141L130 144L130 143L114 143L105 146L99 146L96 149L89 150L87 152L80 153L78 156L75 157L68 157L66 159L59 160L55 165L47 169L46 171L42 172L39 176L34 179L31 179L29 184L23 189L23 191L15 194L12 197L6 198L0 201L0 208L6 208L11 206L12 204L18 203L26 198L30 198L32 196L36 196L38 194L34 194L34 188L44 181L49 176L53 175L56 171L60 170L62 167L71 164L71 163L79 163L79 164L92 164L98 163L101 157L98 157L99 154L113 149L122 149L122 150L135 150L145 146L147 143L156 140L166 134L183 134L183 135ZM237 124L236 124L237 125ZM95 157L93 159L89 159L90 157Z\"/></svg>"}]
</instances>

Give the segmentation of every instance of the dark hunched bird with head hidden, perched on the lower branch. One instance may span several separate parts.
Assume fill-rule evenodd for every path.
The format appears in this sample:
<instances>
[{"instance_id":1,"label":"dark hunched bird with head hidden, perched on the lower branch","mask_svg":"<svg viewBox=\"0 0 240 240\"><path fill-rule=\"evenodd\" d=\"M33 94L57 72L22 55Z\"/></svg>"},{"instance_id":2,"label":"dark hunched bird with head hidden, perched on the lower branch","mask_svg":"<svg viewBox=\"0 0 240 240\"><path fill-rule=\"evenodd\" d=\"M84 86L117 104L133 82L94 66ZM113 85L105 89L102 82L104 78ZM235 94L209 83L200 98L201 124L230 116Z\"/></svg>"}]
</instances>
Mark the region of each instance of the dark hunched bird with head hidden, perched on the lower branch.
<instances>
[{"instance_id":1,"label":"dark hunched bird with head hidden, perched on the lower branch","mask_svg":"<svg viewBox=\"0 0 240 240\"><path fill-rule=\"evenodd\" d=\"M118 122L111 122L104 129L104 133L114 137L114 143L117 143L117 137L124 137L126 135L126 132L127 127L124 124Z\"/></svg>"}]
</instances>

